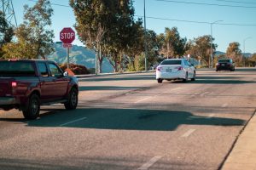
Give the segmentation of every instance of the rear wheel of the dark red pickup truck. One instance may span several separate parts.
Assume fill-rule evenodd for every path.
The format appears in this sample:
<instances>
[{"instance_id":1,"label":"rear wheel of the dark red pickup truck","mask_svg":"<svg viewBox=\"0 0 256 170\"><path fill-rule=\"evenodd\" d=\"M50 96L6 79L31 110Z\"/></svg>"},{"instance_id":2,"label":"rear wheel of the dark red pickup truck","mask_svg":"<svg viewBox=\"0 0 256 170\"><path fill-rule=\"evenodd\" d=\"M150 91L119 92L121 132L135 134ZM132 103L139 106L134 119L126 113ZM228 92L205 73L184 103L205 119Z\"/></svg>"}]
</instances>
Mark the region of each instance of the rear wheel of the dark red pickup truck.
<instances>
[{"instance_id":1,"label":"rear wheel of the dark red pickup truck","mask_svg":"<svg viewBox=\"0 0 256 170\"><path fill-rule=\"evenodd\" d=\"M36 119L39 116L40 99L37 94L32 94L29 98L26 108L22 111L26 119Z\"/></svg>"}]
</instances>

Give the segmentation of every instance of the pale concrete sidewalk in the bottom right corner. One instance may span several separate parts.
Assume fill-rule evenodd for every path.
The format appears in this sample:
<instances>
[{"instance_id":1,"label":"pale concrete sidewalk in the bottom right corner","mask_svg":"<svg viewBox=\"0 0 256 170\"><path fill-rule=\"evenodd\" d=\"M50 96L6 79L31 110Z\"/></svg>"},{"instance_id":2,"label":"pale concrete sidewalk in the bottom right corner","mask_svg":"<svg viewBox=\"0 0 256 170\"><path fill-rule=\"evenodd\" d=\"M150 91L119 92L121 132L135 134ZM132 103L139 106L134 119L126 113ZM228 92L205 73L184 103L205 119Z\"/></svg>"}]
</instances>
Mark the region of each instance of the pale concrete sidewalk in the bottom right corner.
<instances>
[{"instance_id":1,"label":"pale concrete sidewalk in the bottom right corner","mask_svg":"<svg viewBox=\"0 0 256 170\"><path fill-rule=\"evenodd\" d=\"M249 120L236 140L222 170L256 170L256 115Z\"/></svg>"}]
</instances>

